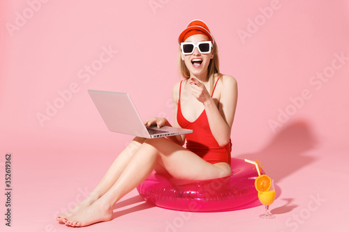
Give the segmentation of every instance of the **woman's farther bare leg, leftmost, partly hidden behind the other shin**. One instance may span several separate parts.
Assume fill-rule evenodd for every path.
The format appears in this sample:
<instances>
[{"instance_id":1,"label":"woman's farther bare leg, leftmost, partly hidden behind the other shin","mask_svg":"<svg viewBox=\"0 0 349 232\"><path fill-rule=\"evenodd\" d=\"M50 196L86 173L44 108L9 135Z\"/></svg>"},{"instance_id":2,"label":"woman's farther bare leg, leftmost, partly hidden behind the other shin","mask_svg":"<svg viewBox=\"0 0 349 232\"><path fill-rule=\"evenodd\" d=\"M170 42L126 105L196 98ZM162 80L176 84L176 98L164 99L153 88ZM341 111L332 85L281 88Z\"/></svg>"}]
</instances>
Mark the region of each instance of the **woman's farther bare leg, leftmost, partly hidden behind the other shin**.
<instances>
[{"instance_id":1,"label":"woman's farther bare leg, leftmost, partly hidden behind the other shin","mask_svg":"<svg viewBox=\"0 0 349 232\"><path fill-rule=\"evenodd\" d=\"M84 201L82 201L72 210L59 215L56 220L66 222L67 217L71 217L77 212L84 210L84 208L91 206L92 203L103 196L103 194L105 194L105 192L107 192L107 190L109 190L110 187L112 187L112 185L114 185L114 183L117 181L128 162L130 162L131 158L133 155L135 155L144 141L145 139L140 137L133 139L133 141L131 141L131 143L128 144L128 146L114 160L107 173L105 173L105 176L103 176L101 182L98 183L89 196L87 196L87 199L84 199Z\"/></svg>"}]
</instances>

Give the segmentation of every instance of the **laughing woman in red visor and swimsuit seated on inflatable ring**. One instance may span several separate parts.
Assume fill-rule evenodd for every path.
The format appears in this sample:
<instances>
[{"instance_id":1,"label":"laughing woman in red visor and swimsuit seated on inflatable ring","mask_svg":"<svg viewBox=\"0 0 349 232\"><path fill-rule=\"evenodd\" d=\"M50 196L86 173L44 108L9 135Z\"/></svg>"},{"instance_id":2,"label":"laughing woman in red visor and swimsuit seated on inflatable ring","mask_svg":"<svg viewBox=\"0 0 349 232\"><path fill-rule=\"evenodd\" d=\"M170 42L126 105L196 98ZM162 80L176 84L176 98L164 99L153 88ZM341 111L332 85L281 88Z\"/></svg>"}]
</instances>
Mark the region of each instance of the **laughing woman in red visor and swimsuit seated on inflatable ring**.
<instances>
[{"instance_id":1,"label":"laughing woman in red visor and swimsuit seated on inflatable ring","mask_svg":"<svg viewBox=\"0 0 349 232\"><path fill-rule=\"evenodd\" d=\"M123 150L87 199L58 221L87 226L112 219L114 204L151 171L203 180L231 174L230 131L237 105L237 82L218 70L218 51L209 28L193 20L179 36L179 68L185 78L173 87L174 127L192 134L156 139L136 137ZM171 126L165 118L144 124ZM182 147L185 140L186 148Z\"/></svg>"}]
</instances>

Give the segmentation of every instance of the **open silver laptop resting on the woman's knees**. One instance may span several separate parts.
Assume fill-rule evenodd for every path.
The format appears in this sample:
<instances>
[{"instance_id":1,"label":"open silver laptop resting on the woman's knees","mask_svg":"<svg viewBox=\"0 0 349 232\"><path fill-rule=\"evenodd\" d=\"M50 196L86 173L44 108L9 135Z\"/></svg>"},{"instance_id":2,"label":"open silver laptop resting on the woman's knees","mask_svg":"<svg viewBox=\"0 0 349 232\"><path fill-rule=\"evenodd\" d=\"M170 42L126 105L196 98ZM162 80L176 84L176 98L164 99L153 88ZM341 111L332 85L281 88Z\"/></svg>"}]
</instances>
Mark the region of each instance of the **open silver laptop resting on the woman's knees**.
<instances>
[{"instance_id":1,"label":"open silver laptop resting on the woman's knees","mask_svg":"<svg viewBox=\"0 0 349 232\"><path fill-rule=\"evenodd\" d=\"M158 138L176 134L188 134L193 130L163 126L145 127L128 93L89 90L105 125L112 132L131 134L137 137Z\"/></svg>"}]
</instances>

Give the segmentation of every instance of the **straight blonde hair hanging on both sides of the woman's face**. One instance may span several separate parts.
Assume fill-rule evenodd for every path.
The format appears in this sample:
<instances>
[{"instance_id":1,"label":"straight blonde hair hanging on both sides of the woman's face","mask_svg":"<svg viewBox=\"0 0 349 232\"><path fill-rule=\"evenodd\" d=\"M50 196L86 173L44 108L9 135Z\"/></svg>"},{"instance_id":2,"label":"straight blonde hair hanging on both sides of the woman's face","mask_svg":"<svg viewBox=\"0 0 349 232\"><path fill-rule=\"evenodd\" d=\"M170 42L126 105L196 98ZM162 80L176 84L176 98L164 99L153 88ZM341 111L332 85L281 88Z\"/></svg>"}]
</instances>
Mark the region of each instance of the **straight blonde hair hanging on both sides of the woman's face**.
<instances>
[{"instance_id":1,"label":"straight blonde hair hanging on both sides of the woman's face","mask_svg":"<svg viewBox=\"0 0 349 232\"><path fill-rule=\"evenodd\" d=\"M214 58L209 61L209 66L207 67L207 77L209 78L209 92L212 94L214 90L214 75L218 74L218 76L221 76L222 74L219 72L219 59L218 59L218 47L216 41L214 42L214 47L212 49L214 53ZM188 68L186 68L186 63L181 59L181 46L179 45L179 51L178 51L178 68L179 73L182 77L188 79L191 77L191 73L189 72Z\"/></svg>"}]
</instances>

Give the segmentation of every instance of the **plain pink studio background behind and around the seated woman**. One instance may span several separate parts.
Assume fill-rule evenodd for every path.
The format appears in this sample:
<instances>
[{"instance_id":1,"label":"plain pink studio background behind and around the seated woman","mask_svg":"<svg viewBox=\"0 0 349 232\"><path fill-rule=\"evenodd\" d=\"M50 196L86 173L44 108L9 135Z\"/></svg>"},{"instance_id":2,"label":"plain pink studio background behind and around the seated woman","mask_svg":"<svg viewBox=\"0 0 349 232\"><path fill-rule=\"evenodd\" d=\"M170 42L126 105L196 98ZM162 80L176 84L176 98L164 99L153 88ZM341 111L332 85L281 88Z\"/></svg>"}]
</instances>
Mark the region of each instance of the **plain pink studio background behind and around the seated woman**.
<instances>
[{"instance_id":1,"label":"plain pink studio background behind and around the seated woman","mask_svg":"<svg viewBox=\"0 0 349 232\"><path fill-rule=\"evenodd\" d=\"M17 0L0 5L1 191L5 155L13 154L12 226L1 219L1 231L71 230L54 217L80 202L130 141L107 130L87 89L128 92L143 119L173 121L171 90L181 79L177 38L196 18L207 22L216 39L221 72L239 84L232 156L259 160L276 180L271 206L276 219L260 219L262 206L181 215L151 207L133 191L117 204L112 221L82 230L345 228L348 1ZM109 56L105 49L112 51ZM154 91L156 86L162 88ZM59 109L50 109L50 120L40 123L37 115L47 114L47 104ZM6 199L0 195L3 215Z\"/></svg>"}]
</instances>

